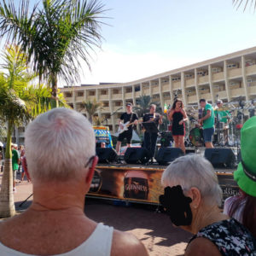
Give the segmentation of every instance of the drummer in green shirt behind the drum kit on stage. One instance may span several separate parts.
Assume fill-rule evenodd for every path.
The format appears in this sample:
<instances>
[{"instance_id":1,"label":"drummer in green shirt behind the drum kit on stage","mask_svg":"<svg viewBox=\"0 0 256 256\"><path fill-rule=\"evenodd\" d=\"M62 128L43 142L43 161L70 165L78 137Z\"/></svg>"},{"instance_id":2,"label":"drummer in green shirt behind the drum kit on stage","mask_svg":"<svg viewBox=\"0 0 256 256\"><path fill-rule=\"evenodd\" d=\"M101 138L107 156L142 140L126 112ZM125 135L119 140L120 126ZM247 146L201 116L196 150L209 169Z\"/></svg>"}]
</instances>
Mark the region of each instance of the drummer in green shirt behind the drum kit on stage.
<instances>
[{"instance_id":1,"label":"drummer in green shirt behind the drum kit on stage","mask_svg":"<svg viewBox=\"0 0 256 256\"><path fill-rule=\"evenodd\" d=\"M223 101L217 101L217 109L214 111L215 115L217 116L218 122L224 123L223 133L224 133L224 144L228 145L229 139L229 124L231 121L230 112L223 107Z\"/></svg>"}]
</instances>

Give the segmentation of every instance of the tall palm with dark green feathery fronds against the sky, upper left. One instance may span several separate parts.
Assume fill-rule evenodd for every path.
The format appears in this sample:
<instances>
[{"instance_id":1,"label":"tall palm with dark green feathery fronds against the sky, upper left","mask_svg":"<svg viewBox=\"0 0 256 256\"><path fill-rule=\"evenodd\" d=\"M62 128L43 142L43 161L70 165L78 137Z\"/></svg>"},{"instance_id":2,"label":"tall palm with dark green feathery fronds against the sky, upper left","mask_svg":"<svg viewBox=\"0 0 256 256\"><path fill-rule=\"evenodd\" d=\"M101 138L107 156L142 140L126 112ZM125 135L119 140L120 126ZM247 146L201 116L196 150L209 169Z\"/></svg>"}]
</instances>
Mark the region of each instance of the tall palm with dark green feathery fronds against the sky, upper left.
<instances>
[{"instance_id":1,"label":"tall palm with dark green feathery fronds against the sky, upper left","mask_svg":"<svg viewBox=\"0 0 256 256\"><path fill-rule=\"evenodd\" d=\"M29 0L2 0L0 38L18 44L27 61L52 89L57 100L59 79L79 81L80 60L90 67L90 50L100 47L103 5L97 0L43 0L43 8Z\"/></svg>"}]
</instances>

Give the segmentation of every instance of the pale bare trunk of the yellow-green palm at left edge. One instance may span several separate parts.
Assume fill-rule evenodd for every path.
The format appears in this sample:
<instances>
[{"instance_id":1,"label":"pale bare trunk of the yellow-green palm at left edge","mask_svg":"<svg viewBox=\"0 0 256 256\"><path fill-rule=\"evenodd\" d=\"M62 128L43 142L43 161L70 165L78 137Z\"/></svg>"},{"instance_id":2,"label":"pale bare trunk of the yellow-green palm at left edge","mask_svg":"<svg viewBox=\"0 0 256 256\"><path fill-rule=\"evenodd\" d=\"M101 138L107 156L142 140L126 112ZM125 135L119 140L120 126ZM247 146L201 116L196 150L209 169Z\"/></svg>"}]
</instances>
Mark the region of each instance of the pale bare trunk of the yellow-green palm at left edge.
<instances>
[{"instance_id":1,"label":"pale bare trunk of the yellow-green palm at left edge","mask_svg":"<svg viewBox=\"0 0 256 256\"><path fill-rule=\"evenodd\" d=\"M13 192L13 167L11 154L11 129L12 123L8 122L7 143L4 160L4 171L0 191L0 218L15 215L15 199Z\"/></svg>"}]
</instances>

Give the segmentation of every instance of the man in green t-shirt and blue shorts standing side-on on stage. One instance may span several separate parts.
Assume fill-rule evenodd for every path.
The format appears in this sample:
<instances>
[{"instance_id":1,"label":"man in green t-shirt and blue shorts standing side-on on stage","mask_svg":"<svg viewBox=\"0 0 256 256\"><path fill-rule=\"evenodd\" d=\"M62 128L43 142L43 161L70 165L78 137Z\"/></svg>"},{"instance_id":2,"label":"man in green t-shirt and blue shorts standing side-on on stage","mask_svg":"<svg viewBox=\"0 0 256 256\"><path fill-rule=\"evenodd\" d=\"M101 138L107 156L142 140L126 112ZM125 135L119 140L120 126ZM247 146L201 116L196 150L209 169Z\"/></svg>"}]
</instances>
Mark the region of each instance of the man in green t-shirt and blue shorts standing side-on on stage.
<instances>
[{"instance_id":1,"label":"man in green t-shirt and blue shorts standing side-on on stage","mask_svg":"<svg viewBox=\"0 0 256 256\"><path fill-rule=\"evenodd\" d=\"M207 103L205 99L200 100L200 106L203 108L203 116L199 119L199 123L203 126L203 136L206 148L213 148L212 135L214 133L214 111L212 105Z\"/></svg>"}]
</instances>

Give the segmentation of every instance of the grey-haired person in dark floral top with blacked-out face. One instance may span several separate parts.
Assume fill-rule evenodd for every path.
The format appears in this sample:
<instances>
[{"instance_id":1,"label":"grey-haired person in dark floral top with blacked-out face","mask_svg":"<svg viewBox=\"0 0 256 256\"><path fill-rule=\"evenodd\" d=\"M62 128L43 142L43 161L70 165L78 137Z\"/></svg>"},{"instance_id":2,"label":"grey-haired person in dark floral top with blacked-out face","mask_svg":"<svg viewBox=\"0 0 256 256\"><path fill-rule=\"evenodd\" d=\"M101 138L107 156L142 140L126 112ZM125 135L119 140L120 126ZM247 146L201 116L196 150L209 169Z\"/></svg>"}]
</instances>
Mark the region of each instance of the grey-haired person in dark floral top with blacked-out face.
<instances>
[{"instance_id":1,"label":"grey-haired person in dark floral top with blacked-out face","mask_svg":"<svg viewBox=\"0 0 256 256\"><path fill-rule=\"evenodd\" d=\"M177 158L166 168L162 183L160 203L172 223L195 235L185 256L256 255L253 235L218 208L222 190L208 160L196 154Z\"/></svg>"}]
</instances>

